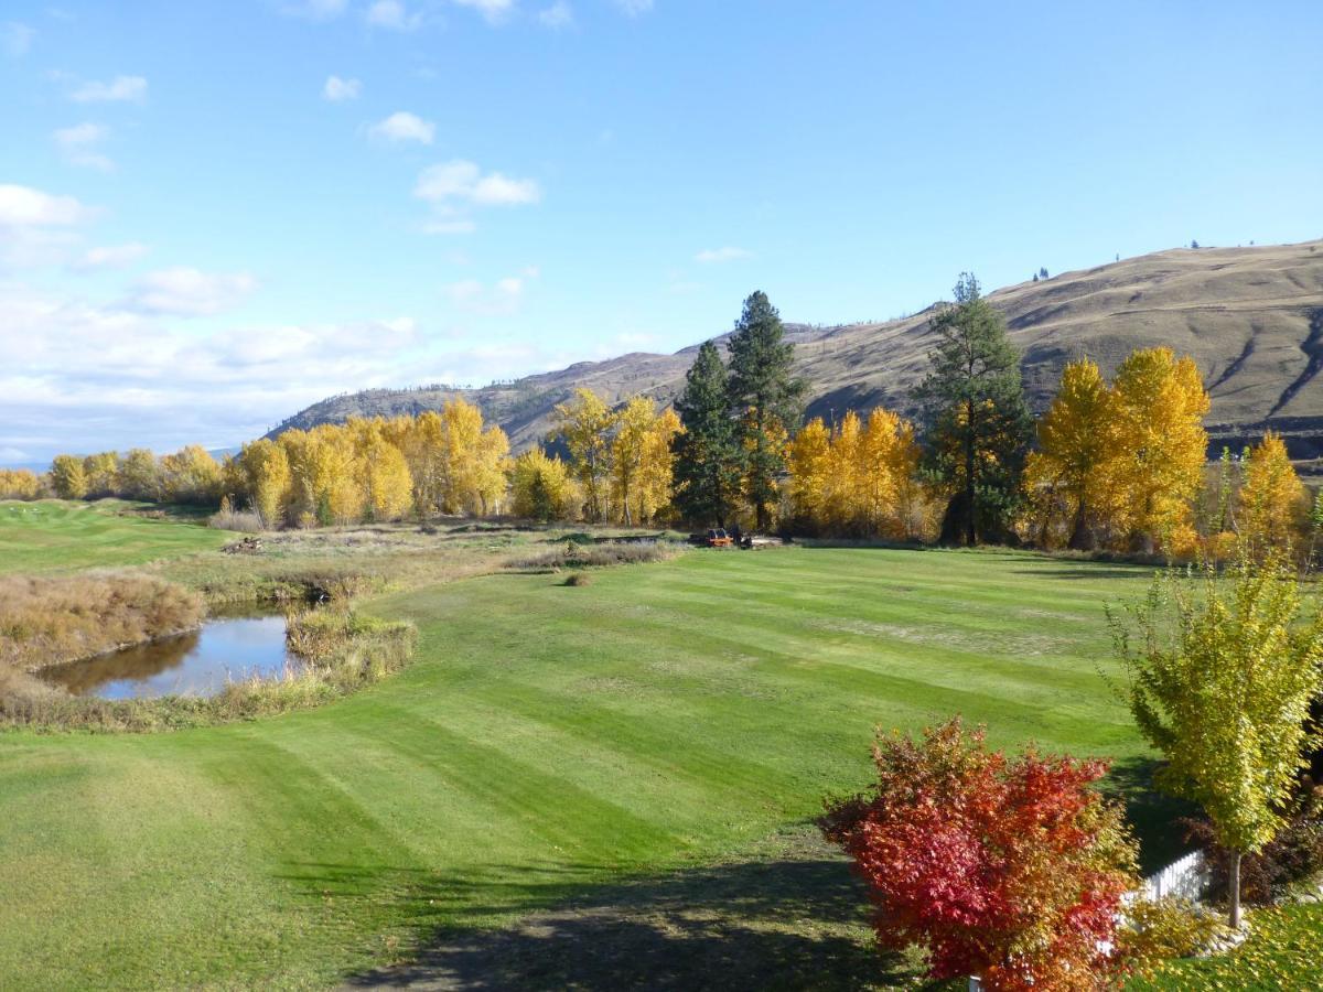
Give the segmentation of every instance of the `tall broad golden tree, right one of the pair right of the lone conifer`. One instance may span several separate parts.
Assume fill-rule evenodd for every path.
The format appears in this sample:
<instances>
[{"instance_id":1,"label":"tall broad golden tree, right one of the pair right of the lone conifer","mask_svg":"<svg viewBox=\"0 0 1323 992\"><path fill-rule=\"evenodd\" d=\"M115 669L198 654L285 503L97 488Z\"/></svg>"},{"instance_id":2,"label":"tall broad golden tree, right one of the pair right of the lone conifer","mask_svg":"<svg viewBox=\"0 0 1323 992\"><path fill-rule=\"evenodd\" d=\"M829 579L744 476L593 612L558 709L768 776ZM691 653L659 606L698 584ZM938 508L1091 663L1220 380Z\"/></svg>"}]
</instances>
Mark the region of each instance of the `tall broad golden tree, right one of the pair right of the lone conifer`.
<instances>
[{"instance_id":1,"label":"tall broad golden tree, right one of the pair right of the lone conifer","mask_svg":"<svg viewBox=\"0 0 1323 992\"><path fill-rule=\"evenodd\" d=\"M1139 546L1177 552L1195 537L1191 501L1199 491L1209 399L1199 369L1171 348L1132 352L1113 381L1119 451L1109 466L1114 525Z\"/></svg>"}]
</instances>

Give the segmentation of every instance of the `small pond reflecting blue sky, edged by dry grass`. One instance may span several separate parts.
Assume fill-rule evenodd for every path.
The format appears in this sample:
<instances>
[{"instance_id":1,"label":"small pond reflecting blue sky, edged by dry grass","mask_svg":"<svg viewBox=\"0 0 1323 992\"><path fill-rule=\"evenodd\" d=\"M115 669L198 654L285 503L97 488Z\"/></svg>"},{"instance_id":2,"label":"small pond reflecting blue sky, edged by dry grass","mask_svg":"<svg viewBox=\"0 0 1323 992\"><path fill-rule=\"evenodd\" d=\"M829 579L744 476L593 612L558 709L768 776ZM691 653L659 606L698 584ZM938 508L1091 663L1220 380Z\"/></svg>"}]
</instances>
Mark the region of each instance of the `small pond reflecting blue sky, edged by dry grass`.
<instances>
[{"instance_id":1,"label":"small pond reflecting blue sky, edged by dry grass","mask_svg":"<svg viewBox=\"0 0 1323 992\"><path fill-rule=\"evenodd\" d=\"M283 614L213 616L192 634L70 661L40 675L74 696L103 700L214 696L228 681L275 677L296 668L284 628Z\"/></svg>"}]
</instances>

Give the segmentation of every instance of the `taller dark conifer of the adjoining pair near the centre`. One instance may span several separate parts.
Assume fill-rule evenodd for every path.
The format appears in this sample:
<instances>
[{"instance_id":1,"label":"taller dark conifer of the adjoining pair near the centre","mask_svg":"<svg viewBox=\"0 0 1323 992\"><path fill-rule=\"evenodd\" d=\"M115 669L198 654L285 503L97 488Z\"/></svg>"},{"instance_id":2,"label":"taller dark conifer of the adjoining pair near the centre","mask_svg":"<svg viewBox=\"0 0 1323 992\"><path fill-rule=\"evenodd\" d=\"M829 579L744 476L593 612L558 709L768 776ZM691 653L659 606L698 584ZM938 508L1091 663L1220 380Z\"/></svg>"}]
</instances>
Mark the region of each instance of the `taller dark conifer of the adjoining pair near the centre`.
<instances>
[{"instance_id":1,"label":"taller dark conifer of the adjoining pair near the centre","mask_svg":"<svg viewBox=\"0 0 1323 992\"><path fill-rule=\"evenodd\" d=\"M803 417L804 384L791 366L795 345L785 340L781 315L767 295L754 292L730 337L726 392L737 423L745 497L758 529L766 529L786 471L786 433Z\"/></svg>"}]
</instances>

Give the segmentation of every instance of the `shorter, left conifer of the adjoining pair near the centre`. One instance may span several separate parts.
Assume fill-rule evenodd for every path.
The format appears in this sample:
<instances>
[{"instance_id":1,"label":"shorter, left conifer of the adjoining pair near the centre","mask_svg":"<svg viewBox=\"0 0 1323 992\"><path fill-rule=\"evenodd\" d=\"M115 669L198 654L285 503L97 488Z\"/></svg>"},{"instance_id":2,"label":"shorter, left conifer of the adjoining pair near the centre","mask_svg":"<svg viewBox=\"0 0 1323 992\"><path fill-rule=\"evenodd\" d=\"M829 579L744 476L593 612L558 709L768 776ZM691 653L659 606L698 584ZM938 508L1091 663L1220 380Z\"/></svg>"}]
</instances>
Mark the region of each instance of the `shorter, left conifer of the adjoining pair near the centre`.
<instances>
[{"instance_id":1,"label":"shorter, left conifer of the adjoining pair near the centre","mask_svg":"<svg viewBox=\"0 0 1323 992\"><path fill-rule=\"evenodd\" d=\"M699 348L675 402L675 505L687 520L725 526L740 493L740 458L726 392L726 368L712 341Z\"/></svg>"}]
</instances>

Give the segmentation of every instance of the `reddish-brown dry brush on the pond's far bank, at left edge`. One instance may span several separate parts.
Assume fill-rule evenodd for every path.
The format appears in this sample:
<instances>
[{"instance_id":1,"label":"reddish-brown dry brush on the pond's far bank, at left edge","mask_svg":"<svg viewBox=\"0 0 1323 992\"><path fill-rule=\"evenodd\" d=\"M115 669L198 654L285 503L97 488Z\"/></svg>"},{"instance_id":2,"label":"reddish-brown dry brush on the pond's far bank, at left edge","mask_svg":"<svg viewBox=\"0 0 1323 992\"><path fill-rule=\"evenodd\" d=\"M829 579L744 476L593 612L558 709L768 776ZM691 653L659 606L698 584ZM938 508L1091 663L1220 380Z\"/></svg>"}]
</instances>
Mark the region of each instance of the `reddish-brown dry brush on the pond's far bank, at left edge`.
<instances>
[{"instance_id":1,"label":"reddish-brown dry brush on the pond's far bank, at left edge","mask_svg":"<svg viewBox=\"0 0 1323 992\"><path fill-rule=\"evenodd\" d=\"M34 672L194 630L202 598L128 575L0 578L0 671Z\"/></svg>"}]
</instances>

